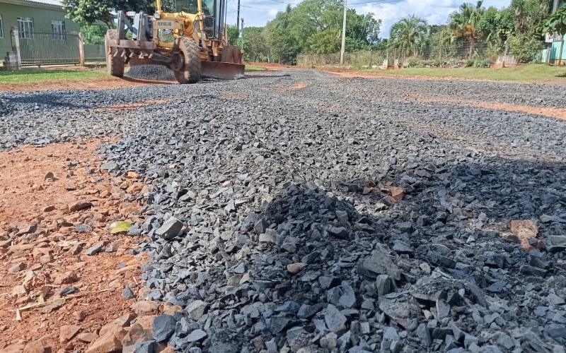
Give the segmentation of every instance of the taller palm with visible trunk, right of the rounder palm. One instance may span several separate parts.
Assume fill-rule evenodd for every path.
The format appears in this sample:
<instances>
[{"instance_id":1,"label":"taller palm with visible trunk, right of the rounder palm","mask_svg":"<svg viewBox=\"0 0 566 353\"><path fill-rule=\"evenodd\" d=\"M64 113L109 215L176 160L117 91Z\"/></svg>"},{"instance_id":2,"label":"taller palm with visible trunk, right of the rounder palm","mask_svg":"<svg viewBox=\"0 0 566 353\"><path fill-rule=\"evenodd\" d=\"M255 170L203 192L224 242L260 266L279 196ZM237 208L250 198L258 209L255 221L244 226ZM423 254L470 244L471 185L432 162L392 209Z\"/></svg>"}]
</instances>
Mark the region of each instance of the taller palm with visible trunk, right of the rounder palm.
<instances>
[{"instance_id":1,"label":"taller palm with visible trunk, right of the rounder palm","mask_svg":"<svg viewBox=\"0 0 566 353\"><path fill-rule=\"evenodd\" d=\"M475 6L470 3L461 4L460 9L450 15L449 28L456 37L464 38L468 42L468 58L472 57L475 43L481 38L478 23L485 12L482 4L482 0L478 1Z\"/></svg>"}]
</instances>

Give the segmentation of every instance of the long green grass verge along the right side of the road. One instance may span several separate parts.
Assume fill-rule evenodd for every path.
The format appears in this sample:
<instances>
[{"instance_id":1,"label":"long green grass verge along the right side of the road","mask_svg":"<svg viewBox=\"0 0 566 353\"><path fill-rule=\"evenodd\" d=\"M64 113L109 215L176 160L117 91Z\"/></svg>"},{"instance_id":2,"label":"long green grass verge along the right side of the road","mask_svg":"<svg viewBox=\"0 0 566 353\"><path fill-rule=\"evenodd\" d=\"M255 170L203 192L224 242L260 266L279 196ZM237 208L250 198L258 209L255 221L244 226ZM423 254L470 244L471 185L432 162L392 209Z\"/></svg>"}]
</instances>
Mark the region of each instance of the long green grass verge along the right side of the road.
<instances>
[{"instance_id":1,"label":"long green grass verge along the right side of the road","mask_svg":"<svg viewBox=\"0 0 566 353\"><path fill-rule=\"evenodd\" d=\"M508 68L401 68L383 71L379 69L359 70L396 75L420 75L431 77L470 78L478 80L544 81L566 78L566 67L541 64L519 65ZM566 79L564 80L566 83Z\"/></svg>"}]
</instances>

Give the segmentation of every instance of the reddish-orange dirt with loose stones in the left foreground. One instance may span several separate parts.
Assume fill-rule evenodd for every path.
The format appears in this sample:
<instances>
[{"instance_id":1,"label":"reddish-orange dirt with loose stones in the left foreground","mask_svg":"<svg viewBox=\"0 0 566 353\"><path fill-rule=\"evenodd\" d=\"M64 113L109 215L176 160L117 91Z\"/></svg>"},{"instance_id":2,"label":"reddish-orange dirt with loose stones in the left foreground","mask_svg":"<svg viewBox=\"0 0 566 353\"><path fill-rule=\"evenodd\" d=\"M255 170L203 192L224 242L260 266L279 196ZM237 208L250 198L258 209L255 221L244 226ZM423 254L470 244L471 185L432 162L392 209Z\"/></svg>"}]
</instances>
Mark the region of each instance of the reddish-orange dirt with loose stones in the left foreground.
<instances>
[{"instance_id":1,"label":"reddish-orange dirt with loose stones in the left foreground","mask_svg":"<svg viewBox=\"0 0 566 353\"><path fill-rule=\"evenodd\" d=\"M101 325L132 312L134 299L123 299L122 289L141 282L139 265L146 255L133 256L128 250L137 249L143 239L110 234L106 227L115 220L138 222L134 213L140 205L127 198L149 191L150 186L134 173L111 177L100 171L100 157L94 154L98 143L23 146L0 152L0 352L21 352L25 344L37 340L47 352L84 352L88 343L76 336L69 342L60 340L62 325L80 326L79 335L96 334ZM71 174L69 165L75 161ZM52 181L44 180L49 172L54 174ZM69 204L76 201L93 206L69 212ZM91 230L79 234L76 224ZM97 255L87 256L86 249L98 241L107 245ZM105 252L110 246L114 251ZM120 263L126 267L117 270ZM77 291L59 309L22 310L21 320L16 320L14 309L37 303L45 285L50 286L45 301L60 298L65 287ZM71 298L108 288L115 290Z\"/></svg>"}]
</instances>

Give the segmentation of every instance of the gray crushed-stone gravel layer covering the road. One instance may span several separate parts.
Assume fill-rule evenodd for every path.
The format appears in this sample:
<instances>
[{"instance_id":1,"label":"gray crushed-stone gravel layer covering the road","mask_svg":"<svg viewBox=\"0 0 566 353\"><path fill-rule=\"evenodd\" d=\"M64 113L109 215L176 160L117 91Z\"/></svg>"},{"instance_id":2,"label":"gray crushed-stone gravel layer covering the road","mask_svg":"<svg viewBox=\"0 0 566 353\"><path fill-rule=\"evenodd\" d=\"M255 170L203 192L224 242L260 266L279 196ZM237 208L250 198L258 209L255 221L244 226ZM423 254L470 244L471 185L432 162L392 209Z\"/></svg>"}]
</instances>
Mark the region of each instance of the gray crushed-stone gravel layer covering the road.
<instances>
[{"instance_id":1,"label":"gray crushed-stone gravel layer covering the road","mask_svg":"<svg viewBox=\"0 0 566 353\"><path fill-rule=\"evenodd\" d=\"M101 152L154 186L143 279L186 308L154 323L178 352L564 352L566 121L419 95L566 107L553 85L273 71L0 93L0 149L122 137Z\"/></svg>"}]
</instances>

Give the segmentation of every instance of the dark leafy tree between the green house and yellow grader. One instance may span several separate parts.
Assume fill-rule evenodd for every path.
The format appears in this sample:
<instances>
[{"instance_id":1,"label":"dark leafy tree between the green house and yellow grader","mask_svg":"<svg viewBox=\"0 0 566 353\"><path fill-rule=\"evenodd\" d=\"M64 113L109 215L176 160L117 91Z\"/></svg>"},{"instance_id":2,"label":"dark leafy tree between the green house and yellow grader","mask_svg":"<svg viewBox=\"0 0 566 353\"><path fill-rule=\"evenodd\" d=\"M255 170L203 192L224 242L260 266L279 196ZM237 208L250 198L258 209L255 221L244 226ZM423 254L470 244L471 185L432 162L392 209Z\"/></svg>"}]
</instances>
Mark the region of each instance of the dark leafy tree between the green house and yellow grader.
<instances>
[{"instance_id":1,"label":"dark leafy tree between the green house and yellow grader","mask_svg":"<svg viewBox=\"0 0 566 353\"><path fill-rule=\"evenodd\" d=\"M151 0L62 0L67 11L66 18L81 24L93 24L102 21L108 28L114 28L112 11L144 11L154 13Z\"/></svg>"}]
</instances>

